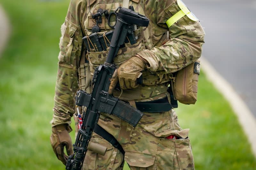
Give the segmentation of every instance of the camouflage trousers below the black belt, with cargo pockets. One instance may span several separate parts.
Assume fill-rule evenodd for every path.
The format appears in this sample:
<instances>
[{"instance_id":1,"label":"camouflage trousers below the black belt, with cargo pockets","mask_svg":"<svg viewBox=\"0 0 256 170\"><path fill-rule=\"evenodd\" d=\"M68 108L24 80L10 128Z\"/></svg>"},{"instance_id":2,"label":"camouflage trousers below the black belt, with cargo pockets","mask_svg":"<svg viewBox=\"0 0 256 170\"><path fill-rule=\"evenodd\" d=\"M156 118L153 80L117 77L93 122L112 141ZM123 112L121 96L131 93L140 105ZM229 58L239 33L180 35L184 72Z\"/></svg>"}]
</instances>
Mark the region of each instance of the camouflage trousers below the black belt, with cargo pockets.
<instances>
[{"instance_id":1,"label":"camouflage trousers below the black belt, with cargo pockets","mask_svg":"<svg viewBox=\"0 0 256 170\"><path fill-rule=\"evenodd\" d=\"M108 114L101 114L99 125L118 140L125 155L93 133L91 141L105 145L108 149L104 156L88 150L84 159L84 170L123 169L123 160L127 161L132 170L194 169L189 129L180 128L173 109L169 112L144 113L135 128ZM170 135L180 139L165 138Z\"/></svg>"}]
</instances>

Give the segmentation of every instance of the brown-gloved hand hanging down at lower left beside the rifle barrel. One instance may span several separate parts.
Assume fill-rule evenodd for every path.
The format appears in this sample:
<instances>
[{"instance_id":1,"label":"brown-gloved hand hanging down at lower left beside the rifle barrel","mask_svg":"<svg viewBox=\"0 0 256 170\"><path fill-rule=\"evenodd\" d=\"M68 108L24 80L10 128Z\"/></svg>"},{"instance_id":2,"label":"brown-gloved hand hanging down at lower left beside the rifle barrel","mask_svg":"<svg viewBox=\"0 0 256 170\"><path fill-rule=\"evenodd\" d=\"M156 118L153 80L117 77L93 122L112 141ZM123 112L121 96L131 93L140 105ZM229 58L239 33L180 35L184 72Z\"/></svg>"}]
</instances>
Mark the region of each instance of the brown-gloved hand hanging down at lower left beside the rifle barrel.
<instances>
[{"instance_id":1,"label":"brown-gloved hand hanging down at lower left beside the rifle barrel","mask_svg":"<svg viewBox=\"0 0 256 170\"><path fill-rule=\"evenodd\" d=\"M71 131L68 124L57 125L52 127L52 135L50 137L53 152L64 165L67 164L68 160L68 156L64 153L64 146L68 155L73 154L72 140L68 131Z\"/></svg>"}]
</instances>

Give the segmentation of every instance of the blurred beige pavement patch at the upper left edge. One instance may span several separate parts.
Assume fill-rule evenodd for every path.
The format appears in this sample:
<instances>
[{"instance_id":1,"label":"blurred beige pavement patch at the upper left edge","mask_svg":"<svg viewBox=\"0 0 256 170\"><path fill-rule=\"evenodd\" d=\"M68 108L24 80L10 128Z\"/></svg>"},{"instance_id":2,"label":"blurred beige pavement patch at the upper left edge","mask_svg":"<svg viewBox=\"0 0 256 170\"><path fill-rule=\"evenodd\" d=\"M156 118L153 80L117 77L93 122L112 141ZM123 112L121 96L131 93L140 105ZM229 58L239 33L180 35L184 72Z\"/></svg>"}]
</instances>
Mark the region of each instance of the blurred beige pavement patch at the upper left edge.
<instances>
[{"instance_id":1,"label":"blurred beige pavement patch at the upper left edge","mask_svg":"<svg viewBox=\"0 0 256 170\"><path fill-rule=\"evenodd\" d=\"M0 57L10 36L10 29L10 22L0 4Z\"/></svg>"}]
</instances>

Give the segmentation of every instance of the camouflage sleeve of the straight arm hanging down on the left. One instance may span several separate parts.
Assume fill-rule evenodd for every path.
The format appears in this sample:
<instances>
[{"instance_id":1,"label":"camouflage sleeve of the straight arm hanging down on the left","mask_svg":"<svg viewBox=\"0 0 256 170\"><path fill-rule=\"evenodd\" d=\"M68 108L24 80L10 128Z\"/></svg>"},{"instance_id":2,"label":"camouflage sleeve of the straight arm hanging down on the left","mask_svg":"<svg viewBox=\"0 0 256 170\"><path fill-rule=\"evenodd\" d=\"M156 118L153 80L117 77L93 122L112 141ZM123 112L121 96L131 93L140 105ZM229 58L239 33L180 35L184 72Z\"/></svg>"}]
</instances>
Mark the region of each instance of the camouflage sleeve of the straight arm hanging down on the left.
<instances>
[{"instance_id":1,"label":"camouflage sleeve of the straight arm hanging down on the left","mask_svg":"<svg viewBox=\"0 0 256 170\"><path fill-rule=\"evenodd\" d=\"M75 112L75 94L78 89L77 65L82 49L80 8L77 0L71 0L67 17L61 26L58 75L55 87L52 126L71 123ZM85 8L86 9L86 8Z\"/></svg>"}]
</instances>

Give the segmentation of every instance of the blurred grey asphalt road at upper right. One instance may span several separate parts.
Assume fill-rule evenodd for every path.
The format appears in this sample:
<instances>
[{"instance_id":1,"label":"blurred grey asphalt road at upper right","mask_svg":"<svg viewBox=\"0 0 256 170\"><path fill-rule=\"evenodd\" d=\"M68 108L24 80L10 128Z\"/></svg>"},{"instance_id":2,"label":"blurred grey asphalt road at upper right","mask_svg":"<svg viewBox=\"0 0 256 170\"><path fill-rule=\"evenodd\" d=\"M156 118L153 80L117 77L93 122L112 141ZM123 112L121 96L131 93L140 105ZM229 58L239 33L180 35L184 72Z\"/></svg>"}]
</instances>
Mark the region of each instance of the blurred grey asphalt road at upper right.
<instances>
[{"instance_id":1,"label":"blurred grey asphalt road at upper right","mask_svg":"<svg viewBox=\"0 0 256 170\"><path fill-rule=\"evenodd\" d=\"M256 117L256 0L183 2L204 27L203 56L234 87Z\"/></svg>"}]
</instances>

